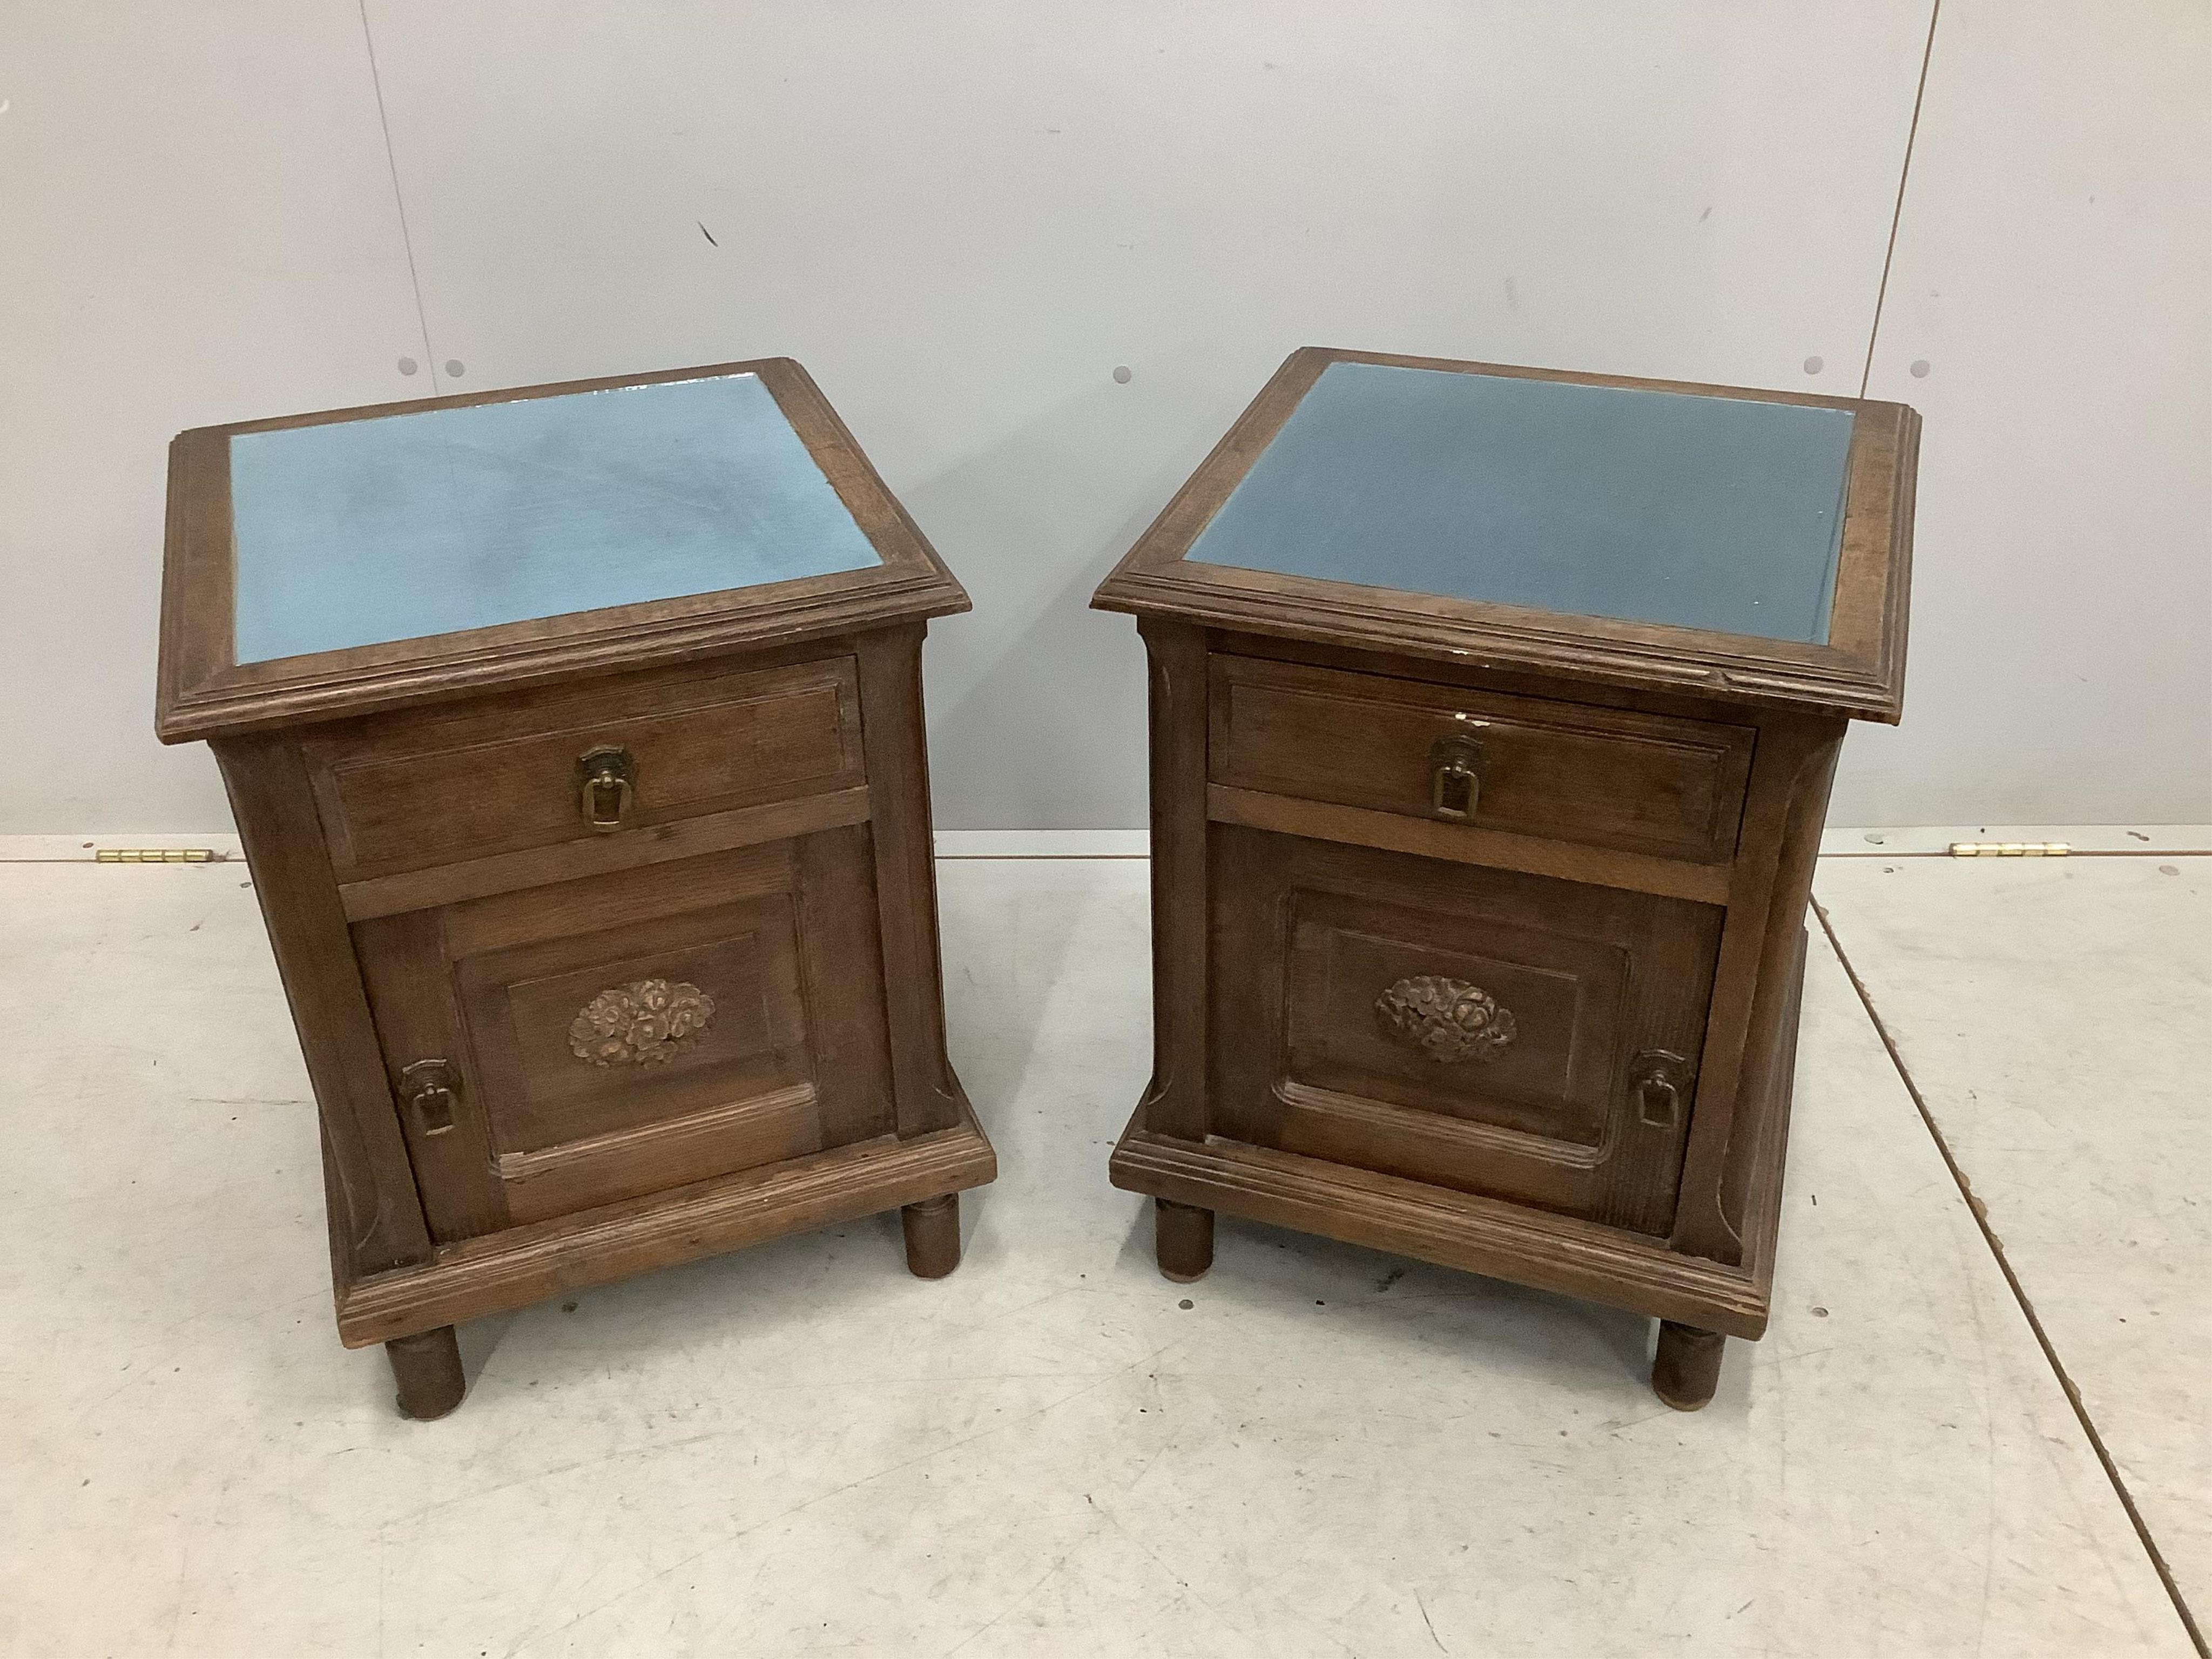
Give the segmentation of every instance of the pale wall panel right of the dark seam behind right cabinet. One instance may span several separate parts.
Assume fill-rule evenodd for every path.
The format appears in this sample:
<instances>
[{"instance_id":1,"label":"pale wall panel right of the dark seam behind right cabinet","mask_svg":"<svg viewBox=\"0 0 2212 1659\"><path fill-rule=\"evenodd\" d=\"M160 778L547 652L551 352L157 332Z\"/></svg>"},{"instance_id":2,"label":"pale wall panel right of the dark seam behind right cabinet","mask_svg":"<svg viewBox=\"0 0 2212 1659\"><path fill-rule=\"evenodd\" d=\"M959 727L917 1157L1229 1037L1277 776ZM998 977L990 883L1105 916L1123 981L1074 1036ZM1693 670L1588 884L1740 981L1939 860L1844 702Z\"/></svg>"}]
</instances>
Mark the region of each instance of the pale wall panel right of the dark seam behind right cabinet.
<instances>
[{"instance_id":1,"label":"pale wall panel right of the dark seam behind right cabinet","mask_svg":"<svg viewBox=\"0 0 2212 1659\"><path fill-rule=\"evenodd\" d=\"M1905 726L1838 823L2212 821L2208 111L2201 0L1942 0L1867 385L1927 420Z\"/></svg>"}]
</instances>

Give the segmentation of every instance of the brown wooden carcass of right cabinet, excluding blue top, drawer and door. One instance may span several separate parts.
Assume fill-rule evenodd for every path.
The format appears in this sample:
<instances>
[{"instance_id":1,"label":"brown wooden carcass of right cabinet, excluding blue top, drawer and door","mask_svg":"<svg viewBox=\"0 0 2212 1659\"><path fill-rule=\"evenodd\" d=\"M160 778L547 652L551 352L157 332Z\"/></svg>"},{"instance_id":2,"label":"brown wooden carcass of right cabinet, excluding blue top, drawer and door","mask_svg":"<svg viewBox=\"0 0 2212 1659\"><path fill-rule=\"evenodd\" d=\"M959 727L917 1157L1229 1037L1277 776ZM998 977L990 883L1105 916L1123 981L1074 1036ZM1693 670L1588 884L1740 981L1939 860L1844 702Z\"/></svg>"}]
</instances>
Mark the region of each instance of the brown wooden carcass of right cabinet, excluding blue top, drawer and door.
<instances>
[{"instance_id":1,"label":"brown wooden carcass of right cabinet, excluding blue top, drawer and door","mask_svg":"<svg viewBox=\"0 0 2212 1659\"><path fill-rule=\"evenodd\" d=\"M1186 560L1334 363L1851 411L1827 644L1566 617ZM1891 403L1323 347L1283 363L1093 599L1095 608L1133 613L1150 657L1155 1060L1110 1177L1159 1201L1159 1259L1170 1279L1206 1272L1212 1212L1230 1210L1657 1316L1661 1398L1683 1409L1710 1398L1721 1336L1756 1338L1767 1323L1803 916L1836 752L1849 719L1896 723L1902 708L1918 436L1920 418ZM1234 659L1747 730L1752 765L1734 847L1719 863L1699 863L1223 785L1221 757L1210 757L1219 719L1210 695L1221 664ZM1719 907L1725 920L1703 1057L1666 1234L1219 1135L1208 1106L1208 867L1214 856L1234 856L1217 849L1217 836L1239 827Z\"/></svg>"}]
</instances>

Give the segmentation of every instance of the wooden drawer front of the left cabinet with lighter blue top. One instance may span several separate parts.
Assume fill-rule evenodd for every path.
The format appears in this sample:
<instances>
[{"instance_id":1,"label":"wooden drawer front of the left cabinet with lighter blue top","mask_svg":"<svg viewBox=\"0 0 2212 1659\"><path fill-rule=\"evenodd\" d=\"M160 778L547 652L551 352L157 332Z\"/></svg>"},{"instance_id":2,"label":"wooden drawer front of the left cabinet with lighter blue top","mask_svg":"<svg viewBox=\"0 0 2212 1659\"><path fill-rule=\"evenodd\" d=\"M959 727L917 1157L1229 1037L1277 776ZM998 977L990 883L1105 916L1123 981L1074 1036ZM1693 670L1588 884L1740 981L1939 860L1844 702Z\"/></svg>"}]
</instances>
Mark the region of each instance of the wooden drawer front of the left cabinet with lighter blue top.
<instances>
[{"instance_id":1,"label":"wooden drawer front of the left cabinet with lighter blue top","mask_svg":"<svg viewBox=\"0 0 2212 1659\"><path fill-rule=\"evenodd\" d=\"M852 657L641 675L325 728L303 745L338 880L624 836L865 781ZM580 765L619 750L628 799L586 818Z\"/></svg>"}]
</instances>

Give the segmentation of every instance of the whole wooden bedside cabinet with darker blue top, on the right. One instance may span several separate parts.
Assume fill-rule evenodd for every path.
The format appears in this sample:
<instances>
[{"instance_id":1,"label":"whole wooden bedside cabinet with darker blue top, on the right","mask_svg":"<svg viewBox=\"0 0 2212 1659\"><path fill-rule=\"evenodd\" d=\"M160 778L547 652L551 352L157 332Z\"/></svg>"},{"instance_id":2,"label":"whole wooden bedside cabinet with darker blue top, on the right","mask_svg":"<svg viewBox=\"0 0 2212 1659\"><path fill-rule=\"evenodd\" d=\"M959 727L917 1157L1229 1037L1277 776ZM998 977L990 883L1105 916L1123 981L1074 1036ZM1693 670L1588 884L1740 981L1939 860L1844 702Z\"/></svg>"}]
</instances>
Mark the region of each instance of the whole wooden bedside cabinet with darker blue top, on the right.
<instances>
[{"instance_id":1,"label":"whole wooden bedside cabinet with darker blue top, on the right","mask_svg":"<svg viewBox=\"0 0 2212 1659\"><path fill-rule=\"evenodd\" d=\"M1920 420L1296 352L1099 586L1152 719L1159 1265L1214 1210L1767 1323L1805 900L1896 721Z\"/></svg>"}]
</instances>

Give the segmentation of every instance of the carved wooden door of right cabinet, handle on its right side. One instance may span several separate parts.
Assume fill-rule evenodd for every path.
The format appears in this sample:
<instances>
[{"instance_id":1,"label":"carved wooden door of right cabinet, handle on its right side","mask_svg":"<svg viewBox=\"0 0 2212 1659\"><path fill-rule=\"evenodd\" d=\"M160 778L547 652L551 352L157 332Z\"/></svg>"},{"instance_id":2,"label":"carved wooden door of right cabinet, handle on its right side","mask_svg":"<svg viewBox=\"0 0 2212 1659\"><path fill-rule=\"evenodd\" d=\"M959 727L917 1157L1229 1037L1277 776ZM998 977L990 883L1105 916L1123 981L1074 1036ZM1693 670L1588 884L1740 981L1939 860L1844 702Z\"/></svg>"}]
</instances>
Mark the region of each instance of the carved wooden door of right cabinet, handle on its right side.
<instances>
[{"instance_id":1,"label":"carved wooden door of right cabinet, handle on its right side","mask_svg":"<svg viewBox=\"0 0 2212 1659\"><path fill-rule=\"evenodd\" d=\"M1214 825L1219 1135L1663 1234L1721 911Z\"/></svg>"}]
</instances>

